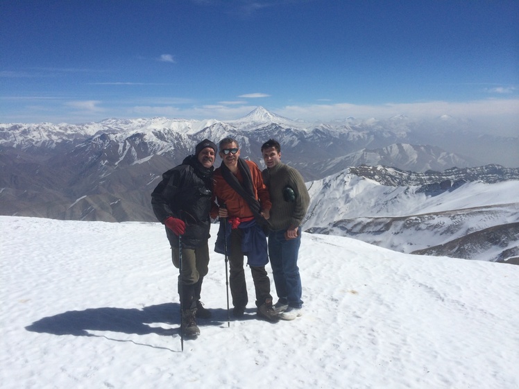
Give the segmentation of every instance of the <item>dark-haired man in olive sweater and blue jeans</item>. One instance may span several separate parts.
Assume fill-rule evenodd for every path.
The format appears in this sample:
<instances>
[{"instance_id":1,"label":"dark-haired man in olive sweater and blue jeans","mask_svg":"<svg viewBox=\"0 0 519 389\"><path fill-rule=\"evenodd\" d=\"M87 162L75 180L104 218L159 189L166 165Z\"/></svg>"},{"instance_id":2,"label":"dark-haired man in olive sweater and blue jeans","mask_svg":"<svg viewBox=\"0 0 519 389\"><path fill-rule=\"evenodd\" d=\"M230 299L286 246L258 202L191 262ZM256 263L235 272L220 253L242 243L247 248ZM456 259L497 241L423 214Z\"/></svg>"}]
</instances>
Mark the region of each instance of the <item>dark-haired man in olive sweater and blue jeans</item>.
<instances>
[{"instance_id":1,"label":"dark-haired man in olive sweater and blue jeans","mask_svg":"<svg viewBox=\"0 0 519 389\"><path fill-rule=\"evenodd\" d=\"M279 300L275 310L283 320L293 320L303 314L302 286L298 268L301 243L301 223L307 212L310 196L300 173L281 162L281 146L269 139L262 146L266 169L263 181L269 188L272 202L269 231L275 291Z\"/></svg>"}]
</instances>

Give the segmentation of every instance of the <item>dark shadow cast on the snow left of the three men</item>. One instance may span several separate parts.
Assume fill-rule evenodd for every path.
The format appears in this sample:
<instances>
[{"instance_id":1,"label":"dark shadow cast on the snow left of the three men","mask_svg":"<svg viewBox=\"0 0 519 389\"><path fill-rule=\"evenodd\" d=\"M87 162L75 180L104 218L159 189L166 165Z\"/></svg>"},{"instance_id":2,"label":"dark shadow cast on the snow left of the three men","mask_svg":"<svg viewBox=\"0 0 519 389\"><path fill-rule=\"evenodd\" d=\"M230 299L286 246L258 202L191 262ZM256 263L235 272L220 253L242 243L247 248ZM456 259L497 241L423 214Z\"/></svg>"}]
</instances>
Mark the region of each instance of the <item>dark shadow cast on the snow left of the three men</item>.
<instances>
[{"instance_id":1,"label":"dark shadow cast on the snow left of the three men","mask_svg":"<svg viewBox=\"0 0 519 389\"><path fill-rule=\"evenodd\" d=\"M215 310L220 311L220 310ZM219 314L221 315L221 313ZM218 316L218 315L217 315ZM217 325L216 320L210 320ZM84 311L67 311L33 322L27 331L53 335L91 336L88 331L112 331L123 334L158 334L171 336L180 328L153 327L151 323L175 324L180 327L180 304L164 303L136 308L90 308Z\"/></svg>"}]
</instances>

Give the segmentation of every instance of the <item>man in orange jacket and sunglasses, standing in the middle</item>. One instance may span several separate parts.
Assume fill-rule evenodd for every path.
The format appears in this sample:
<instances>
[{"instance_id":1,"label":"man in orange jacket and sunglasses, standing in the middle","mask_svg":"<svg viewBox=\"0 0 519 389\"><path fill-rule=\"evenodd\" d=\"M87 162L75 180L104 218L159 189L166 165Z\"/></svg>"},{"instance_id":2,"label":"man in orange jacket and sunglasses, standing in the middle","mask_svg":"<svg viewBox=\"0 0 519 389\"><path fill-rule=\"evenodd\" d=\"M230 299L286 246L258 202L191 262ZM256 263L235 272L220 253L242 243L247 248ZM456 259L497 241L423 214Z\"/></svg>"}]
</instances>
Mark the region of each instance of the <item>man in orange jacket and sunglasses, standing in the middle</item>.
<instances>
[{"instance_id":1,"label":"man in orange jacket and sunglasses, standing in the middle","mask_svg":"<svg viewBox=\"0 0 519 389\"><path fill-rule=\"evenodd\" d=\"M263 183L259 167L239 157L236 139L222 139L219 155L223 162L214 171L214 195L219 207L214 208L212 216L219 216L223 219L221 223L226 223L219 232L215 250L223 252L221 242L228 242L226 254L230 263L232 314L235 317L244 315L248 303L244 271L246 255L255 286L257 315L277 322L278 313L272 307L271 283L265 270L269 255L263 227L268 223L272 205L269 190Z\"/></svg>"}]
</instances>

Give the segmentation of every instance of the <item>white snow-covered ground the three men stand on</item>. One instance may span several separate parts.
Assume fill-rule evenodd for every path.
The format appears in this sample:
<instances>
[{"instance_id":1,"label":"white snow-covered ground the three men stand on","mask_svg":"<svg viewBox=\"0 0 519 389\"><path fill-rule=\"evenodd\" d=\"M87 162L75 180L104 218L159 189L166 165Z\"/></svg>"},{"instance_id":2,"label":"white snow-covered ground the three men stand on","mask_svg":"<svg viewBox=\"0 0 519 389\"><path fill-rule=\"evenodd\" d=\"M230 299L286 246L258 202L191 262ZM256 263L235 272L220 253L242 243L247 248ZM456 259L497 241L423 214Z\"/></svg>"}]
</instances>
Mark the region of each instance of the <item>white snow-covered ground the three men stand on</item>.
<instances>
[{"instance_id":1,"label":"white snow-covered ground the three men stand on","mask_svg":"<svg viewBox=\"0 0 519 389\"><path fill-rule=\"evenodd\" d=\"M247 272L228 327L212 253L213 318L181 352L162 225L0 216L0 236L3 389L519 388L519 266L304 234L305 314L257 320Z\"/></svg>"}]
</instances>

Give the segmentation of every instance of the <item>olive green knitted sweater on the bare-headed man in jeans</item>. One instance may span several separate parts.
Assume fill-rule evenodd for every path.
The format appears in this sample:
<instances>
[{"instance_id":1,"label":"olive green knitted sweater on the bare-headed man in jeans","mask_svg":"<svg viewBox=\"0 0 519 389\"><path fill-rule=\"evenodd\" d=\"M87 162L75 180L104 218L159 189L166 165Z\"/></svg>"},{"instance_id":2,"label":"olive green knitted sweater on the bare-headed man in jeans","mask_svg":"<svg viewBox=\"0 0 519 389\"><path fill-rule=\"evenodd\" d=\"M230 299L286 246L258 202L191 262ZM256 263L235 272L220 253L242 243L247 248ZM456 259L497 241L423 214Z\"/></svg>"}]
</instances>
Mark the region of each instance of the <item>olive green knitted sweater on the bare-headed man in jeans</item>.
<instances>
[{"instance_id":1,"label":"olive green knitted sweater on the bare-headed man in jeans","mask_svg":"<svg viewBox=\"0 0 519 389\"><path fill-rule=\"evenodd\" d=\"M310 204L310 196L303 176L295 168L281 162L273 168L266 168L262 174L264 183L269 187L272 202L269 222L273 230L299 227ZM296 192L295 202L284 200L283 189L287 186Z\"/></svg>"}]
</instances>

